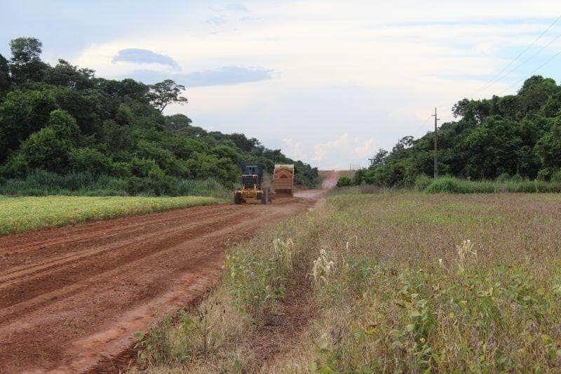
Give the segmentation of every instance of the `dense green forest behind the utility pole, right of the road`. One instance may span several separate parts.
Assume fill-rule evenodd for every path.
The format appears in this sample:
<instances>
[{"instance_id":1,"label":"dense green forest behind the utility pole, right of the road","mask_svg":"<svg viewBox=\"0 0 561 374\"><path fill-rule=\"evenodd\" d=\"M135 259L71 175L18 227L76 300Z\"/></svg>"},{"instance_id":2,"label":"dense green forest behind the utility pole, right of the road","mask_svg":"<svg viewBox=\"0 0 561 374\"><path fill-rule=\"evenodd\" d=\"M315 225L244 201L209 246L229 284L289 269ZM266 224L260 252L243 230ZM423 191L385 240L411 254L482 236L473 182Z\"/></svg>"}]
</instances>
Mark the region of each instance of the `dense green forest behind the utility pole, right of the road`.
<instances>
[{"instance_id":1,"label":"dense green forest behind the utility pole, right of the road","mask_svg":"<svg viewBox=\"0 0 561 374\"><path fill-rule=\"evenodd\" d=\"M457 121L438 129L440 175L468 180L515 177L561 182L561 86L532 76L516 95L464 99L452 108ZM410 187L419 175L433 175L434 132L402 138L380 149L353 181Z\"/></svg>"}]
</instances>

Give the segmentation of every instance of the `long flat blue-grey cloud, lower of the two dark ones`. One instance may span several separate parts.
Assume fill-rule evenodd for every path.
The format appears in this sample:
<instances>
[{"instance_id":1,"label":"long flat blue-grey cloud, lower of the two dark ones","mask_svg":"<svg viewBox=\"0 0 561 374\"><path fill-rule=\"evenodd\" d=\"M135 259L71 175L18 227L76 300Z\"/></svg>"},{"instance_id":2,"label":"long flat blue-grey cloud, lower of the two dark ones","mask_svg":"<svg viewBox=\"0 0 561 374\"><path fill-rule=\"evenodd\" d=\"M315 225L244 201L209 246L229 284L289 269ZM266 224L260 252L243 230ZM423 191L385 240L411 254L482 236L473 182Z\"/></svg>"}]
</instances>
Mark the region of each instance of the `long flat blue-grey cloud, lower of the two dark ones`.
<instances>
[{"instance_id":1,"label":"long flat blue-grey cloud, lower of the two dark ones","mask_svg":"<svg viewBox=\"0 0 561 374\"><path fill-rule=\"evenodd\" d=\"M188 74L169 74L158 70L135 70L126 77L153 84L163 79L173 79L187 87L233 86L250 82L266 81L279 74L263 67L224 66Z\"/></svg>"}]
</instances>

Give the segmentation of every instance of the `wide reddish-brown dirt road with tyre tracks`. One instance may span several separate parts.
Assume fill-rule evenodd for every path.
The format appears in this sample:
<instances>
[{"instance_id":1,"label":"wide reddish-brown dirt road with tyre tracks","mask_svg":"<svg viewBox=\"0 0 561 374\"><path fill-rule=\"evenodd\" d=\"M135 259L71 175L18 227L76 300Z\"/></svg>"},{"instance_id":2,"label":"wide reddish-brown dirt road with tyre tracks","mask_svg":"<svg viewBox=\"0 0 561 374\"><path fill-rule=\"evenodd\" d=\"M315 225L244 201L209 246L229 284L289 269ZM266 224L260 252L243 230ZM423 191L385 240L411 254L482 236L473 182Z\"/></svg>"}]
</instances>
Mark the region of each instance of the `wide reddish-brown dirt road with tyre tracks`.
<instances>
[{"instance_id":1,"label":"wide reddish-brown dirt road with tyre tracks","mask_svg":"<svg viewBox=\"0 0 561 374\"><path fill-rule=\"evenodd\" d=\"M321 194L0 236L0 373L115 371L133 333L217 281L225 249Z\"/></svg>"}]
</instances>

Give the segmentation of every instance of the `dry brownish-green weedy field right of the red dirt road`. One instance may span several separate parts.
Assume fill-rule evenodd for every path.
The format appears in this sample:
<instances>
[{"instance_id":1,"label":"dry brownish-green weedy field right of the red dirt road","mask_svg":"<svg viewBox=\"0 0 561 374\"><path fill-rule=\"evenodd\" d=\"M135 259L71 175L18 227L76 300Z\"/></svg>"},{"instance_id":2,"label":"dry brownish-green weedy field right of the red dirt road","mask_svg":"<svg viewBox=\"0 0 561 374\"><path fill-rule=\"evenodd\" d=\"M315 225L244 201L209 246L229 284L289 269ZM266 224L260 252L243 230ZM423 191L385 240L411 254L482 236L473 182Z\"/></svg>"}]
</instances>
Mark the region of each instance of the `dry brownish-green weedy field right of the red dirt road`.
<instances>
[{"instance_id":1,"label":"dry brownish-green weedy field right of the red dirt road","mask_svg":"<svg viewBox=\"0 0 561 374\"><path fill-rule=\"evenodd\" d=\"M233 248L214 293L140 340L140 365L151 373L558 372L560 211L558 194L330 196ZM255 342L302 282L315 317L284 354L260 361Z\"/></svg>"}]
</instances>

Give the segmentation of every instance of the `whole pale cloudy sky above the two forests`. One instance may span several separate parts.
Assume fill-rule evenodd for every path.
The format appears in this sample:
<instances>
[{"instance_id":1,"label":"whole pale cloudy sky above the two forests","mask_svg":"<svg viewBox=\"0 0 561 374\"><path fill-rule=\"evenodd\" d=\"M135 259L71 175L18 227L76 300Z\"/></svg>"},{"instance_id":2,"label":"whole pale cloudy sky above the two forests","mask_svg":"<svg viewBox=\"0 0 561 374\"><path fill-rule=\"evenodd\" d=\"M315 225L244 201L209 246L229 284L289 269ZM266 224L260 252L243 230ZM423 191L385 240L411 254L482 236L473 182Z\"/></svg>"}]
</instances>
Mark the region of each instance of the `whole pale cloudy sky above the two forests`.
<instances>
[{"instance_id":1,"label":"whole pale cloudy sky above the two forests","mask_svg":"<svg viewBox=\"0 0 561 374\"><path fill-rule=\"evenodd\" d=\"M435 107L442 123L532 74L559 84L560 15L558 0L0 0L0 53L34 36L52 65L174 79L189 103L165 114L346 169L430 131Z\"/></svg>"}]
</instances>

